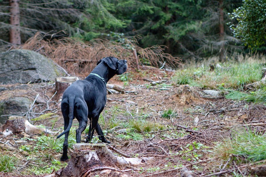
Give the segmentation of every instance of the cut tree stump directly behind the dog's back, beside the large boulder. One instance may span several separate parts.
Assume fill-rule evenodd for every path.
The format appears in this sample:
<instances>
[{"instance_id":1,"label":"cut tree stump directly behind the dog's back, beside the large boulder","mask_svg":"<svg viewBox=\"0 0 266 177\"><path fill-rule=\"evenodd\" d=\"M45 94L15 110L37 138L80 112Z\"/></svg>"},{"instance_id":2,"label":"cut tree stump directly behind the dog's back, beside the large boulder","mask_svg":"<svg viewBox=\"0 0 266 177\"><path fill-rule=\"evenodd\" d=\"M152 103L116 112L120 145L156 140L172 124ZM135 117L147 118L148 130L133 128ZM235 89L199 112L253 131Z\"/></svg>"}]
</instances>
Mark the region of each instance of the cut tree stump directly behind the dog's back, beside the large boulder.
<instances>
[{"instance_id":1,"label":"cut tree stump directly behind the dog's back, beside the large boulder","mask_svg":"<svg viewBox=\"0 0 266 177\"><path fill-rule=\"evenodd\" d=\"M56 95L55 99L59 100L62 98L64 91L70 86L73 82L79 80L78 77L58 77L56 78Z\"/></svg>"}]
</instances>

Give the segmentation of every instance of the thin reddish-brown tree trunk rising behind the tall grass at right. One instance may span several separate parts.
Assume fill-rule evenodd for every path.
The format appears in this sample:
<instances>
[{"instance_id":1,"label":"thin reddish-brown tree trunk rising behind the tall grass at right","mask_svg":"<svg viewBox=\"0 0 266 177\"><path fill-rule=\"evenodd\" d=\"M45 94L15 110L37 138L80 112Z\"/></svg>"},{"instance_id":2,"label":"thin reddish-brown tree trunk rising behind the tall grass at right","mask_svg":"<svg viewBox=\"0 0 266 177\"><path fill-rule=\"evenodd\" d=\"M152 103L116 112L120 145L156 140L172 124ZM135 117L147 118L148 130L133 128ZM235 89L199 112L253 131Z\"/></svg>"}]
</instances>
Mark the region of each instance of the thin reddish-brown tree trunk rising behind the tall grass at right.
<instances>
[{"instance_id":1,"label":"thin reddish-brown tree trunk rising behind the tall grass at right","mask_svg":"<svg viewBox=\"0 0 266 177\"><path fill-rule=\"evenodd\" d=\"M221 49L219 53L219 60L221 62L225 61L225 56L224 56L224 19L223 19L223 0L219 0L219 36L220 36L220 41L222 42L221 44Z\"/></svg>"}]
</instances>

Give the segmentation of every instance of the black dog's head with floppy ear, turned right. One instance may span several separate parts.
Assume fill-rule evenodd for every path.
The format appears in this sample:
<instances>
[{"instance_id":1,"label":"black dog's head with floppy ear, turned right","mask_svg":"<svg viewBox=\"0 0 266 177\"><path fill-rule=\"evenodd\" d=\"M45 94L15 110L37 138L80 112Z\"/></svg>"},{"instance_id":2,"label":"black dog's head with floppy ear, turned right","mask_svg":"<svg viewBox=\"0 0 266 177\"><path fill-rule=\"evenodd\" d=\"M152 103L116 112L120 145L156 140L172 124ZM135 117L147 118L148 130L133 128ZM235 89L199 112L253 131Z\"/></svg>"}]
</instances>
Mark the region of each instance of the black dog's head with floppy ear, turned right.
<instances>
[{"instance_id":1,"label":"black dog's head with floppy ear, turned right","mask_svg":"<svg viewBox=\"0 0 266 177\"><path fill-rule=\"evenodd\" d=\"M120 75L120 74L123 74L124 72L126 72L126 69L127 69L127 61L126 60L118 60L115 57L105 57L105 58L100 59L97 62L97 65L101 62L103 62L109 68L114 70L117 75Z\"/></svg>"}]
</instances>

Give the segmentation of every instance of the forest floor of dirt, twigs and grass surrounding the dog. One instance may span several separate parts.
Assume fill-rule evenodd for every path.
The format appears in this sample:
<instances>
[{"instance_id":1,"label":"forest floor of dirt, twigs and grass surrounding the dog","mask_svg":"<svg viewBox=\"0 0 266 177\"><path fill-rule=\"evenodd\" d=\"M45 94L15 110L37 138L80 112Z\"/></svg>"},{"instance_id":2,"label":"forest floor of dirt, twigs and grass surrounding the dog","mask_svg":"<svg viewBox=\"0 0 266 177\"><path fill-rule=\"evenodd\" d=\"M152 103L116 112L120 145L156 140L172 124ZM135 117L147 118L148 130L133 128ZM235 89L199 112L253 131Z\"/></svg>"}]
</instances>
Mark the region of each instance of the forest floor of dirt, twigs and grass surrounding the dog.
<instances>
[{"instance_id":1,"label":"forest floor of dirt, twigs and grass surrounding the dog","mask_svg":"<svg viewBox=\"0 0 266 177\"><path fill-rule=\"evenodd\" d=\"M173 79L175 76L174 72L149 69L129 71L109 81L124 85L125 93L108 94L100 126L114 148L132 157L150 157L151 160L134 167L112 166L131 171L119 174L111 170L103 174L94 171L90 176L184 176L181 172L184 166L192 176L256 176L254 169L265 164L266 155L262 154L266 147L265 105L227 99L226 89L220 96L202 95L205 89L193 84L179 85ZM163 82L152 86L153 81ZM55 92L51 83L27 85L28 89L16 94L34 99L38 93L48 100ZM64 121L57 100L51 99L49 108L51 110L41 117L35 116L31 123L63 131ZM46 104L39 104L34 112L45 109ZM69 137L69 157L77 127L75 119ZM86 132L87 129L82 140ZM65 167L67 163L59 161L63 139L46 135L0 135L1 143L18 149L0 151L1 163L10 162L10 172L0 175L45 176ZM17 145L15 140L25 143ZM97 137L93 141L98 142Z\"/></svg>"}]
</instances>

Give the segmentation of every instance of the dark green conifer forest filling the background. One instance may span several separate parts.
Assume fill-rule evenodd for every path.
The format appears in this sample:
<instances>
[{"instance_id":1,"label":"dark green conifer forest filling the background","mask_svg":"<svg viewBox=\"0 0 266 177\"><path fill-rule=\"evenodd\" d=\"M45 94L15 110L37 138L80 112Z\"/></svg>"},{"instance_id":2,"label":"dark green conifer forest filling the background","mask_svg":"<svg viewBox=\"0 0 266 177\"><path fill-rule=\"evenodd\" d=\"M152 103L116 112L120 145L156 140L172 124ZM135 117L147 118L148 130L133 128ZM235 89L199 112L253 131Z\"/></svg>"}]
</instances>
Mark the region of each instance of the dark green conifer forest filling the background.
<instances>
[{"instance_id":1,"label":"dark green conifer forest filling the background","mask_svg":"<svg viewBox=\"0 0 266 177\"><path fill-rule=\"evenodd\" d=\"M14 0L18 1L18 0ZM140 47L164 45L183 60L250 50L232 33L231 13L242 0L21 0L21 43L40 32L47 39L73 37L120 42L136 36ZM0 0L0 45L9 46L10 1ZM232 26L231 26L232 27ZM48 35L47 35L48 34ZM253 50L254 51L254 50ZM265 52L265 46L256 52Z\"/></svg>"}]
</instances>

